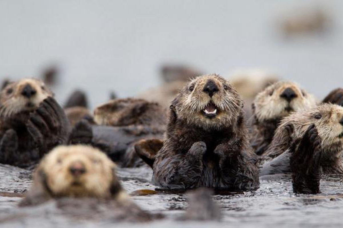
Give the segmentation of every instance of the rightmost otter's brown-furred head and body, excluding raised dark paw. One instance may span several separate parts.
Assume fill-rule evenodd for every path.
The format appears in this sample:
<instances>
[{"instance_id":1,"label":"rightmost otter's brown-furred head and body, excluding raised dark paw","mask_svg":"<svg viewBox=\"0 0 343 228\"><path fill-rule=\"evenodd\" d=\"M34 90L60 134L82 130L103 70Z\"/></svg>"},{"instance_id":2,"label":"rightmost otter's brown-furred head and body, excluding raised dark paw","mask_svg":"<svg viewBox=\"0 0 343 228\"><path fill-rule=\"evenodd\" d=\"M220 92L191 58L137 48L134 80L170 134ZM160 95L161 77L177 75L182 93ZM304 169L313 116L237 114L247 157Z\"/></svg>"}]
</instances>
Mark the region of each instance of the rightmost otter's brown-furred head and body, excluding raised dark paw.
<instances>
[{"instance_id":1,"label":"rightmost otter's brown-furred head and body, excluding raised dark paw","mask_svg":"<svg viewBox=\"0 0 343 228\"><path fill-rule=\"evenodd\" d=\"M338 105L321 104L315 108L299 111L285 117L277 128L270 147L262 157L263 161L276 161L280 156L287 158L291 146L300 141L311 125L320 138L320 166L324 173L343 173L343 108ZM291 130L289 130L291 129ZM308 145L309 147L310 145ZM296 148L295 148L296 149ZM280 160L281 161L281 160ZM267 167L264 164L264 169ZM289 172L289 164L283 172ZM306 165L306 164L304 164ZM276 167L274 165L274 167ZM262 168L263 170L263 168ZM268 174L268 169L264 170Z\"/></svg>"}]
</instances>

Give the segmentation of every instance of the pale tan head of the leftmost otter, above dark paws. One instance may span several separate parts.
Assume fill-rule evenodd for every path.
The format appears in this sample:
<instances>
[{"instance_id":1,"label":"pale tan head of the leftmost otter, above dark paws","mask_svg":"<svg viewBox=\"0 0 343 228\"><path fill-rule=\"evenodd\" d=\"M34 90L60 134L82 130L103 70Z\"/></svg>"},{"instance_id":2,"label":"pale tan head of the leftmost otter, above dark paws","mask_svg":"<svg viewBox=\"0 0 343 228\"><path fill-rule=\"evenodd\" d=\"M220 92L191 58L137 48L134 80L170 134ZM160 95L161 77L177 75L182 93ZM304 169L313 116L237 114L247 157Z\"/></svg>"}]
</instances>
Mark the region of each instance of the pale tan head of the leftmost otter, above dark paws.
<instances>
[{"instance_id":1,"label":"pale tan head of the leftmost otter, above dark paws","mask_svg":"<svg viewBox=\"0 0 343 228\"><path fill-rule=\"evenodd\" d=\"M0 118L4 120L22 111L33 111L49 96L53 93L38 79L9 83L0 92Z\"/></svg>"}]
</instances>

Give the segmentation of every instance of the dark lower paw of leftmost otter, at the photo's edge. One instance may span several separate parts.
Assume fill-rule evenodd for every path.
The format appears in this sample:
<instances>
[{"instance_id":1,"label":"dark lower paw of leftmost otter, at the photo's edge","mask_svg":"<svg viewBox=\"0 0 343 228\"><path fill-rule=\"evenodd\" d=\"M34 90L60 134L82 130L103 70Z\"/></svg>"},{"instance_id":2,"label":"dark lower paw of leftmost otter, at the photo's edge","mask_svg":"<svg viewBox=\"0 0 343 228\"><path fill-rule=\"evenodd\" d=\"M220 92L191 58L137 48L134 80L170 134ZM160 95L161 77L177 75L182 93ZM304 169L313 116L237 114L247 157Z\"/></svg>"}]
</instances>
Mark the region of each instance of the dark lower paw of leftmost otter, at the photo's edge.
<instances>
[{"instance_id":1,"label":"dark lower paw of leftmost otter, at the photo's edge","mask_svg":"<svg viewBox=\"0 0 343 228\"><path fill-rule=\"evenodd\" d=\"M0 163L12 164L18 149L18 136L13 129L9 129L2 136L0 141Z\"/></svg>"}]
</instances>

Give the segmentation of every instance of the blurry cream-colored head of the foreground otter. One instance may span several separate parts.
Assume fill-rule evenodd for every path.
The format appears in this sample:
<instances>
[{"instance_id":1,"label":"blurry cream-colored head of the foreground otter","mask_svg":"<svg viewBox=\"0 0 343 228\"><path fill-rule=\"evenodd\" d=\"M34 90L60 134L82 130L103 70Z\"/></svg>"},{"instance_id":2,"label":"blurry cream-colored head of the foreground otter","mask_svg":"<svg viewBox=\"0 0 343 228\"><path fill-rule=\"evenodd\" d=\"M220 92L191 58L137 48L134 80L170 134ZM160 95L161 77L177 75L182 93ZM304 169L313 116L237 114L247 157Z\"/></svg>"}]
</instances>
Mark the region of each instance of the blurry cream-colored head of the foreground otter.
<instances>
[{"instance_id":1,"label":"blurry cream-colored head of the foreground otter","mask_svg":"<svg viewBox=\"0 0 343 228\"><path fill-rule=\"evenodd\" d=\"M109 197L110 186L118 182L114 169L103 152L81 145L56 147L38 167L50 191L60 197Z\"/></svg>"}]
</instances>

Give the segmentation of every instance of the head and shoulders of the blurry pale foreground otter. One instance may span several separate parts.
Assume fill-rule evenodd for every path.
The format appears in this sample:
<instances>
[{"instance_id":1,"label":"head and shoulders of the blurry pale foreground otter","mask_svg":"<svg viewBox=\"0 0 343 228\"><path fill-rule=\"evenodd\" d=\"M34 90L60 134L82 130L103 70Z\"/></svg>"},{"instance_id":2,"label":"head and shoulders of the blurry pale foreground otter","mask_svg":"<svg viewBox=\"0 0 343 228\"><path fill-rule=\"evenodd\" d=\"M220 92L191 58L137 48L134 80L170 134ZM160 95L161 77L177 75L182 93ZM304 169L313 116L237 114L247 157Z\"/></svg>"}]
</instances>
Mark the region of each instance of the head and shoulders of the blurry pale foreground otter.
<instances>
[{"instance_id":1,"label":"head and shoulders of the blurry pale foreground otter","mask_svg":"<svg viewBox=\"0 0 343 228\"><path fill-rule=\"evenodd\" d=\"M34 173L34 183L21 205L58 197L127 198L115 173L116 165L90 146L59 146Z\"/></svg>"}]
</instances>

